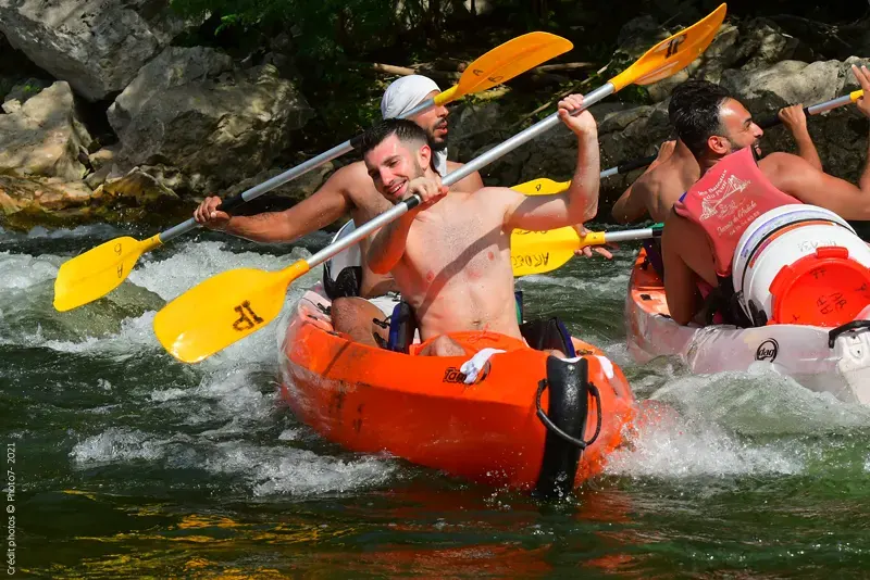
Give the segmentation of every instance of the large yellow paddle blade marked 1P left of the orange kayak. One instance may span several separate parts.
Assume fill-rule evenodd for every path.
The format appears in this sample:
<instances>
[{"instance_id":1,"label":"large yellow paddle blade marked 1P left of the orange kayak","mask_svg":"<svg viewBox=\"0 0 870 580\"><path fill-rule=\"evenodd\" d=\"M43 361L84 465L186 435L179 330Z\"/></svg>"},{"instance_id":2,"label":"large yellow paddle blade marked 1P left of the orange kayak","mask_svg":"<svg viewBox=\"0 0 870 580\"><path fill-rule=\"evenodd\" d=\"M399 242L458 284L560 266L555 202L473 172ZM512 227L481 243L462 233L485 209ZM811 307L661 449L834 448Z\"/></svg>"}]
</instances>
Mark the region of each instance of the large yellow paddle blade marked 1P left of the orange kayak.
<instances>
[{"instance_id":1,"label":"large yellow paddle blade marked 1P left of the orange kayak","mask_svg":"<svg viewBox=\"0 0 870 580\"><path fill-rule=\"evenodd\" d=\"M308 269L300 260L279 272L219 274L163 306L154 335L175 358L198 363L268 325L281 312L287 286Z\"/></svg>"}]
</instances>

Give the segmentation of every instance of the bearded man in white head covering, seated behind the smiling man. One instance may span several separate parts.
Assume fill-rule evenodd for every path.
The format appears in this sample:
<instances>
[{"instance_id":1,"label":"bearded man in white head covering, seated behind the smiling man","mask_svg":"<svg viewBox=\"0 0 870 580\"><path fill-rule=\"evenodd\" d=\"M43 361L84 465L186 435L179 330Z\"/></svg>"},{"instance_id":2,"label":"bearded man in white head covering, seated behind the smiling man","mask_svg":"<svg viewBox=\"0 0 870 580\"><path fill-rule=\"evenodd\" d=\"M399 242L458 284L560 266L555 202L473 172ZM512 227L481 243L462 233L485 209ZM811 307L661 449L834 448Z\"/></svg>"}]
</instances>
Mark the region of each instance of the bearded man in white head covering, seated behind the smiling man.
<instances>
[{"instance_id":1,"label":"bearded man in white head covering, seated behind the smiling man","mask_svg":"<svg viewBox=\"0 0 870 580\"><path fill-rule=\"evenodd\" d=\"M384 92L381 114L384 118L397 117L438 92L440 92L438 86L430 78L420 75L401 77L390 84ZM410 119L425 130L435 149L438 172L443 175L462 165L447 161L448 114L447 108L442 105ZM475 172L456 184L453 189L474 191L482 187L481 175ZM217 211L221 201L217 197L207 198L194 212L196 220L210 229L222 230L252 241L273 243L291 242L340 219L348 213L356 224L363 224L390 207L389 202L375 190L361 161L341 167L311 197L283 212L231 216ZM369 268L364 259L368 245L369 240L360 242L363 256L359 291L361 298L334 300L332 320L338 331L348 333L353 340L377 345L375 336L386 340L387 332L382 326L373 324L373 320L383 319L391 312L383 312L365 299L376 300L377 297L396 288L390 276L376 275Z\"/></svg>"}]
</instances>

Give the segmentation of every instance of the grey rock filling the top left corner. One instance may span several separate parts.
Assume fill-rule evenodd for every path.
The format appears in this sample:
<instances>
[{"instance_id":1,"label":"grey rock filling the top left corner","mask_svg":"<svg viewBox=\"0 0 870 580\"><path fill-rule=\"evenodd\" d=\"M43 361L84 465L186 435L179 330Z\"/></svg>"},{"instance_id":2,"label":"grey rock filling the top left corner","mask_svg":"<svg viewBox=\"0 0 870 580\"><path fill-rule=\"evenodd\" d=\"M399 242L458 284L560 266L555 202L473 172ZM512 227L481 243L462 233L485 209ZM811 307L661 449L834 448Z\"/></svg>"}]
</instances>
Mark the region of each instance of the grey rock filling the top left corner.
<instances>
[{"instance_id":1,"label":"grey rock filling the top left corner","mask_svg":"<svg viewBox=\"0 0 870 580\"><path fill-rule=\"evenodd\" d=\"M123 90L186 27L167 0L0 0L9 43L91 101Z\"/></svg>"}]
</instances>

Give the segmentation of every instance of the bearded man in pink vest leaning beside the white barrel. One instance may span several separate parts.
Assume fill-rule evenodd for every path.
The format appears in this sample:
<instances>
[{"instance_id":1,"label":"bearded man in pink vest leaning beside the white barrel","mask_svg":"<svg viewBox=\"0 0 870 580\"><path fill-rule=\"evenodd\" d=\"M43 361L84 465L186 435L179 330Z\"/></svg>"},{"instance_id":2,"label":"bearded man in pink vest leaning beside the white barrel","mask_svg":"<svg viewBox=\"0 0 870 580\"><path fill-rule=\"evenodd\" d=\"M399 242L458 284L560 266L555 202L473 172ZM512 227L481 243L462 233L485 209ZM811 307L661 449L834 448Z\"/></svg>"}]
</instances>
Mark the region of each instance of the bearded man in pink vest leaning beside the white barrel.
<instances>
[{"instance_id":1,"label":"bearded man in pink vest leaning beside the white barrel","mask_svg":"<svg viewBox=\"0 0 870 580\"><path fill-rule=\"evenodd\" d=\"M853 66L852 70L861 88L870 91L870 72L867 67ZM859 99L857 108L870 118L870 99ZM700 314L699 281L713 288L731 283L730 276L723 277L722 274L723 269L730 274L730 259L718 257L726 256L728 251L714 254L714 248L723 243L736 247L737 239L749 225L741 222L739 227L726 229L730 234L728 239L723 236L713 239L707 235L700 225L703 220L696 219L689 207L693 197L711 191L704 189L701 184L708 177L716 178L728 163L738 163L734 165L736 169L751 172L755 176L751 181L745 181L745 188L732 193L730 202L738 209L746 201L776 205L797 200L825 207L846 219L870 219L870 164L865 167L860 187L828 175L805 159L790 153L771 153L758 161L754 168L753 155L743 152L747 148L755 150L763 131L753 123L749 112L723 92L721 87L711 84L698 86L693 102L686 109L676 111L674 126L694 153L704 175L697 188L693 186L686 193L685 204L681 202L675 211L669 213L662 232L662 256L667 273L664 290L671 317L678 324L686 325ZM739 156L742 153L746 159ZM718 166L719 162L723 165ZM707 172L711 172L710 176L706 175ZM749 198L750 194L753 198ZM735 215L741 216L741 213ZM748 217L753 215L749 213ZM729 263L722 264L724 260ZM695 321L704 323L700 319Z\"/></svg>"}]
</instances>

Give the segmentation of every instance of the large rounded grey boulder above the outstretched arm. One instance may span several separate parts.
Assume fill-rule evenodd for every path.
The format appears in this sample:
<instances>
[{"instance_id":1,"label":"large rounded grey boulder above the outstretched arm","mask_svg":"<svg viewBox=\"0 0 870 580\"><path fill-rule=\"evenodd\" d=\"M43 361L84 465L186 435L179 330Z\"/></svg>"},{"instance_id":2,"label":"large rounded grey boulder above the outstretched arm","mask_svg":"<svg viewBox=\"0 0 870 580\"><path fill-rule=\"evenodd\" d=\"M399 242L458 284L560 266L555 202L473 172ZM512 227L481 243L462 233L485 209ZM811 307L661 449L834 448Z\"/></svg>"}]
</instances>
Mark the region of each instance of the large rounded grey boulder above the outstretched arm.
<instances>
[{"instance_id":1,"label":"large rounded grey boulder above the outstretched arm","mask_svg":"<svg viewBox=\"0 0 870 580\"><path fill-rule=\"evenodd\" d=\"M313 111L274 66L229 64L171 48L144 66L109 112L127 166L183 167L175 187L199 194L268 169Z\"/></svg>"}]
</instances>

